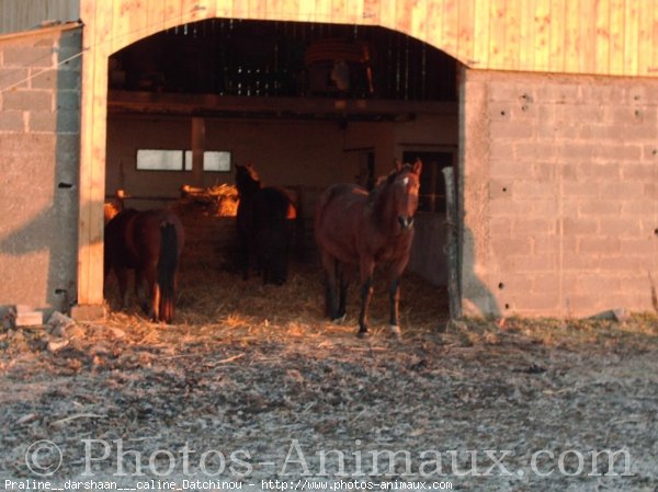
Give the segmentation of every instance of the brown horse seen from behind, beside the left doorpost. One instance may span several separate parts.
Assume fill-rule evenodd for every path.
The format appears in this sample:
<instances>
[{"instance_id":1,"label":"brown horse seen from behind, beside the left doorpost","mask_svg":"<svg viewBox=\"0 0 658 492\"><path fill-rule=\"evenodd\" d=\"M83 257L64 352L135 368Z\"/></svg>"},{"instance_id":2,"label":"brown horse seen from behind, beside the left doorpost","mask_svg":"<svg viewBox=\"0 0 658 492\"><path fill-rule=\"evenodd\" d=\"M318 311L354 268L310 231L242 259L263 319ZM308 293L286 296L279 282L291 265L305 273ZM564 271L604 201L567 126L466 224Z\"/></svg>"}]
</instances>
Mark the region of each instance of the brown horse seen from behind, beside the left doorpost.
<instances>
[{"instance_id":1,"label":"brown horse seen from behind, beside the left doorpost","mask_svg":"<svg viewBox=\"0 0 658 492\"><path fill-rule=\"evenodd\" d=\"M114 271L122 308L127 301L127 271L135 271L135 295L152 321L171 323L174 314L178 264L185 237L171 210L126 208L105 226L105 279ZM140 290L147 282L148 296Z\"/></svg>"}]
</instances>

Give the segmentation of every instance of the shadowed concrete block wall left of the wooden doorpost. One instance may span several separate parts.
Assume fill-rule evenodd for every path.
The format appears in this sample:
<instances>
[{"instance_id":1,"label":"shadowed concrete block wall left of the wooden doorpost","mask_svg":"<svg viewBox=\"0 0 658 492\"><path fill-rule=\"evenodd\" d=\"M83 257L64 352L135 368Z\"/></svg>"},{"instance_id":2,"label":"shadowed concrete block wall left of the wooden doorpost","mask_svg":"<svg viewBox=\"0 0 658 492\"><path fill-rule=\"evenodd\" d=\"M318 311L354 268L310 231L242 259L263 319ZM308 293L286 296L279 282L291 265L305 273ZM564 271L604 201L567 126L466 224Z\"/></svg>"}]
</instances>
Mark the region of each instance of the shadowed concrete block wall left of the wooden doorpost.
<instances>
[{"instance_id":1,"label":"shadowed concrete block wall left of the wooden doorpost","mask_svg":"<svg viewBox=\"0 0 658 492\"><path fill-rule=\"evenodd\" d=\"M80 49L70 26L0 36L0 308L75 300Z\"/></svg>"}]
</instances>

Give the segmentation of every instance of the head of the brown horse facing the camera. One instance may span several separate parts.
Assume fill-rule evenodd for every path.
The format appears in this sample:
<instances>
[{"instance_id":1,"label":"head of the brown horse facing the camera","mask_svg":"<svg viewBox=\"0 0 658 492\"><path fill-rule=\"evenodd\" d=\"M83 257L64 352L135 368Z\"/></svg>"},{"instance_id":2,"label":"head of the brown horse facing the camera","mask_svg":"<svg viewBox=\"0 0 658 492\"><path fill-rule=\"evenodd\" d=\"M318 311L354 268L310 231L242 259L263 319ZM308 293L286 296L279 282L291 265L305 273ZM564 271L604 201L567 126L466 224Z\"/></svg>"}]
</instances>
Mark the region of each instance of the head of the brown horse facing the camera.
<instances>
[{"instance_id":1,"label":"head of the brown horse facing the camera","mask_svg":"<svg viewBox=\"0 0 658 492\"><path fill-rule=\"evenodd\" d=\"M395 171L389 175L393 208L397 224L402 230L413 226L413 216L418 209L418 191L422 162L418 159L413 164L396 162Z\"/></svg>"}]
</instances>

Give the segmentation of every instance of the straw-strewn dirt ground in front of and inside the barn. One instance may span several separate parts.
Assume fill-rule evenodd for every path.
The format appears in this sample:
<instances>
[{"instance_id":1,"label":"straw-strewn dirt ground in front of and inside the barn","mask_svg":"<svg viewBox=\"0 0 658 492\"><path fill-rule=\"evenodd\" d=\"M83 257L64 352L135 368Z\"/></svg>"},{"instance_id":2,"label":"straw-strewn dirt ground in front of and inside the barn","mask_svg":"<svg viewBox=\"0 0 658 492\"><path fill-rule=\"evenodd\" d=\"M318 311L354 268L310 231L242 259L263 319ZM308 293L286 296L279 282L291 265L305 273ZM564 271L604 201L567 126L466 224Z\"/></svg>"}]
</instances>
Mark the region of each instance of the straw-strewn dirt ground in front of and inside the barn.
<instances>
[{"instance_id":1,"label":"straw-strewn dirt ground in front of and inside the barn","mask_svg":"<svg viewBox=\"0 0 658 492\"><path fill-rule=\"evenodd\" d=\"M207 267L174 325L1 332L5 489L658 490L655 318L446 323L408 275L404 341L382 284L361 340L322 320L320 281Z\"/></svg>"}]
</instances>

